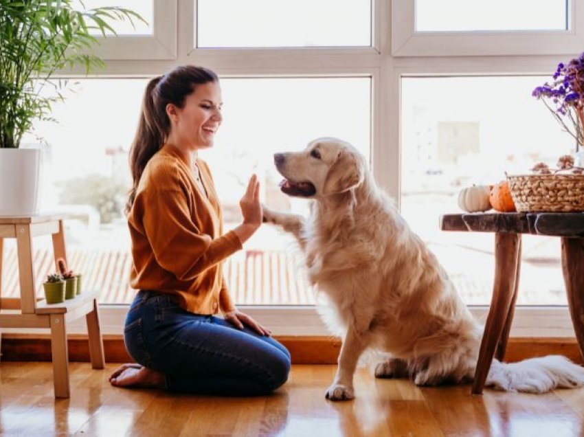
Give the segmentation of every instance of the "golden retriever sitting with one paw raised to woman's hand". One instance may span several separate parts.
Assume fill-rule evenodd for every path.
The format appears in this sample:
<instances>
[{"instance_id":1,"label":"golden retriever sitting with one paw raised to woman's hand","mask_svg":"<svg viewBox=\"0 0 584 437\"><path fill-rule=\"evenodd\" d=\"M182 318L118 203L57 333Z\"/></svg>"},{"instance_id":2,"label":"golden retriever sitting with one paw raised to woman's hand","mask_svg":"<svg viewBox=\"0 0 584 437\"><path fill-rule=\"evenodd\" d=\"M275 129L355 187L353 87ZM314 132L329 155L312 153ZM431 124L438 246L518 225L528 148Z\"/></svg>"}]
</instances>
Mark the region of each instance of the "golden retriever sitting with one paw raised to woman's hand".
<instances>
[{"instance_id":1,"label":"golden retriever sitting with one paw raised to woman's hand","mask_svg":"<svg viewBox=\"0 0 584 437\"><path fill-rule=\"evenodd\" d=\"M353 374L368 348L387 352L376 377L411 377L418 385L473 378L482 327L446 271L350 144L319 138L296 153L276 153L285 194L311 199L308 218L264 208L264 220L297 239L308 278L335 315L344 339L328 399L352 399ZM329 320L330 319L330 320ZM520 363L493 360L486 385L548 392L584 384L584 368L560 356Z\"/></svg>"}]
</instances>

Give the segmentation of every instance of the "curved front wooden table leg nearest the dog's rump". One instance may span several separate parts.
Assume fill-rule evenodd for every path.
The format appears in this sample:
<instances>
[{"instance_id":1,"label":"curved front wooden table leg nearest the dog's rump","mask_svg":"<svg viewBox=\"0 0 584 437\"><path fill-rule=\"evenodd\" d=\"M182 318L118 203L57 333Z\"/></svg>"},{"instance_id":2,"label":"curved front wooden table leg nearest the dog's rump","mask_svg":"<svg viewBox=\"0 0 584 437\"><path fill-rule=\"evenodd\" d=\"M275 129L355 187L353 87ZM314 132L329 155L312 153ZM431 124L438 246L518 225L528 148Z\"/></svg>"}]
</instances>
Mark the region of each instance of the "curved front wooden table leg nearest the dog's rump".
<instances>
[{"instance_id":1,"label":"curved front wooden table leg nearest the dog's rump","mask_svg":"<svg viewBox=\"0 0 584 437\"><path fill-rule=\"evenodd\" d=\"M515 290L517 276L517 255L519 254L520 236L506 232L495 233L495 281L493 298L488 310L480 352L473 381L473 394L481 394L486 375L491 368L495 348L501 339L504 324Z\"/></svg>"}]
</instances>

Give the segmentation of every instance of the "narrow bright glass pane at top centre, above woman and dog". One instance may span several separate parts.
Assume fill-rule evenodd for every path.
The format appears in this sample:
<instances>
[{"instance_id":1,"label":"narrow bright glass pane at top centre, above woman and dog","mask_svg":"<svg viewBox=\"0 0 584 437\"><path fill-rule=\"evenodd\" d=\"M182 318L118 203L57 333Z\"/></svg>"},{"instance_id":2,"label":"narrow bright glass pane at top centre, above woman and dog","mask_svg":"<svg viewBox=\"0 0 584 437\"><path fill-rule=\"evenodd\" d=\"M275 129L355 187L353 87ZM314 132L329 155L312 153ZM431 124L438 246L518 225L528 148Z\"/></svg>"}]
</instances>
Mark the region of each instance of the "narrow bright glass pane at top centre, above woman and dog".
<instances>
[{"instance_id":1,"label":"narrow bright glass pane at top centre, above woman and dog","mask_svg":"<svg viewBox=\"0 0 584 437\"><path fill-rule=\"evenodd\" d=\"M197 47L371 45L367 0L199 0Z\"/></svg>"}]
</instances>

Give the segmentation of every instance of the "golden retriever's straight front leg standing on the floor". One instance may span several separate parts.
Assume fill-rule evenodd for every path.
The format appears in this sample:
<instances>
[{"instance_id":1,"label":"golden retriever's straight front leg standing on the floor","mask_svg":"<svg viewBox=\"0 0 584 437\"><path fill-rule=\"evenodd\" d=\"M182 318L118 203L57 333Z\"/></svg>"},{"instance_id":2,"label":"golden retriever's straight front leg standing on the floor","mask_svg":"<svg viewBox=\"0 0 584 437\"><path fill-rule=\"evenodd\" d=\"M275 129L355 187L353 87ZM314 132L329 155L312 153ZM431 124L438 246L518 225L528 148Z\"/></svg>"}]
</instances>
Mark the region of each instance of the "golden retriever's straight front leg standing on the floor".
<instances>
[{"instance_id":1,"label":"golden retriever's straight front leg standing on the floor","mask_svg":"<svg viewBox=\"0 0 584 437\"><path fill-rule=\"evenodd\" d=\"M368 337L361 337L355 327L349 326L341 353L335 381L326 390L326 399L331 401L348 401L355 397L353 392L353 374L361 353L368 346Z\"/></svg>"}]
</instances>

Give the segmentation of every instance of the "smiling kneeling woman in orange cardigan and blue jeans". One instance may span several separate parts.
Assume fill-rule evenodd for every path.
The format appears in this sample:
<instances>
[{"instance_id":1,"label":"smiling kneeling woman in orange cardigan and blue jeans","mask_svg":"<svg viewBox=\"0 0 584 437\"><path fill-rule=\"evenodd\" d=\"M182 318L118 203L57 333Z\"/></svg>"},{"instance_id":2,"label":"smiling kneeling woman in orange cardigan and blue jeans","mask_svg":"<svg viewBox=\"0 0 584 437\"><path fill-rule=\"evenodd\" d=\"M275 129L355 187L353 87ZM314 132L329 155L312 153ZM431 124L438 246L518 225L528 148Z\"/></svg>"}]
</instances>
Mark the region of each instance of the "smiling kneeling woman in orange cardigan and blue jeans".
<instances>
[{"instance_id":1,"label":"smiling kneeling woman in orange cardigan and blue jeans","mask_svg":"<svg viewBox=\"0 0 584 437\"><path fill-rule=\"evenodd\" d=\"M236 309L221 273L222 261L262 223L253 175L240 201L243 223L223 234L211 173L197 156L213 145L221 104L216 74L201 67L177 67L146 87L126 205L130 282L139 291L124 341L139 364L113 372L118 387L250 395L288 379L288 350Z\"/></svg>"}]
</instances>

